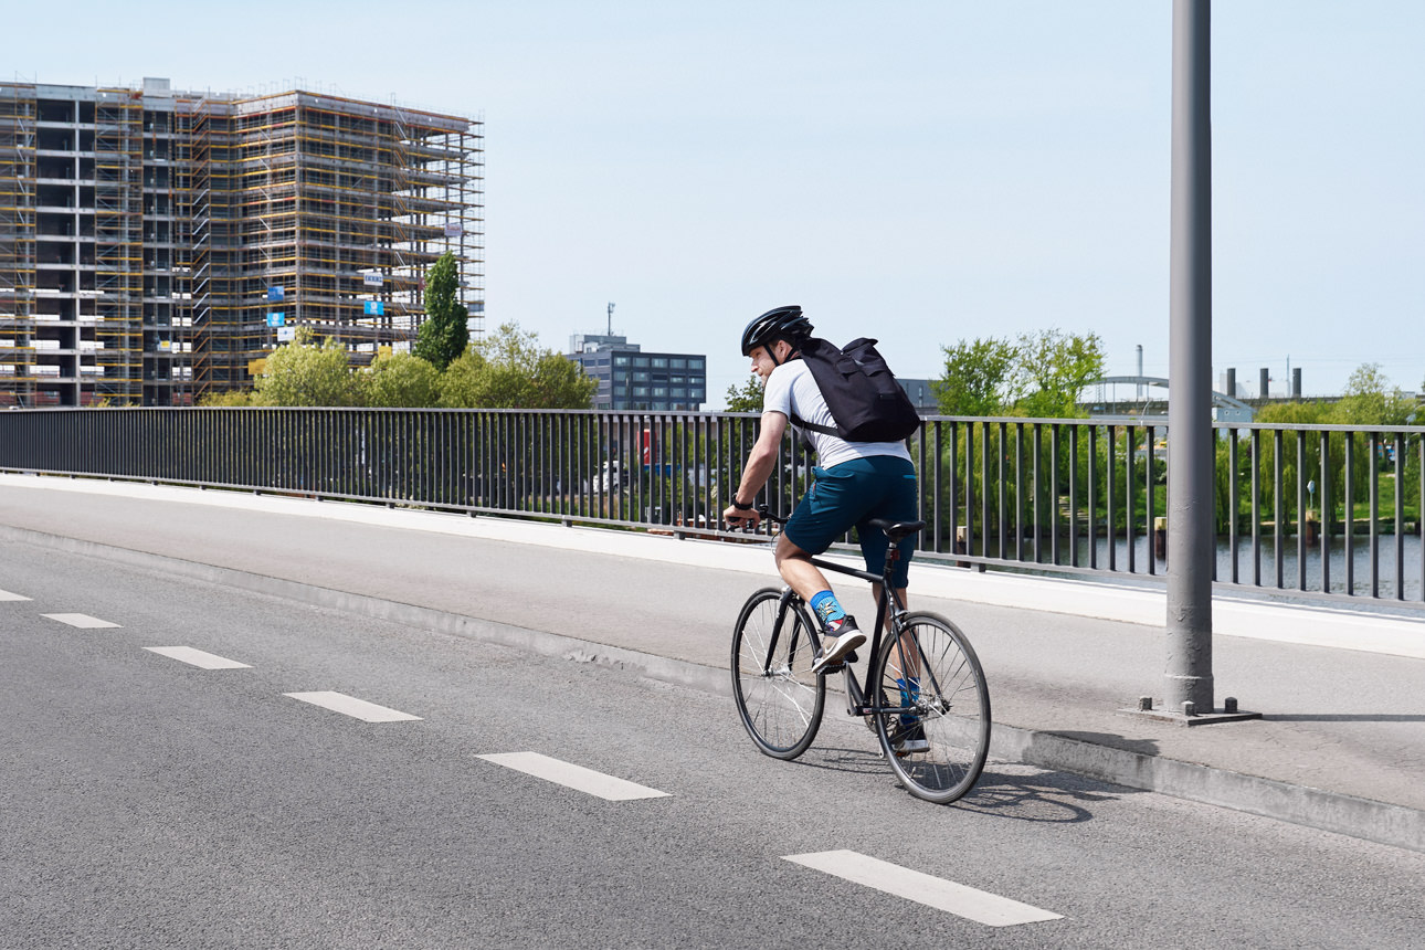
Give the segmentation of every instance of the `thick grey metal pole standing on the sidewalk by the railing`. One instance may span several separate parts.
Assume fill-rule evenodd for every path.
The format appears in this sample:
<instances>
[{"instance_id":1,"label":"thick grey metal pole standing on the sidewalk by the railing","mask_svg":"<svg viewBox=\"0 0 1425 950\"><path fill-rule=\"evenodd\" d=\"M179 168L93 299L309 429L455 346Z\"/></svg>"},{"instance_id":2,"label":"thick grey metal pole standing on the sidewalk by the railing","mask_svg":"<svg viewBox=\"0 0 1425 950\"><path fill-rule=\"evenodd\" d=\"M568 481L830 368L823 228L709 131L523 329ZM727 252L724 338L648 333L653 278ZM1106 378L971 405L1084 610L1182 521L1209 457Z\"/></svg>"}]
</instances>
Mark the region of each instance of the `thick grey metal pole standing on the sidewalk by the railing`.
<instances>
[{"instance_id":1,"label":"thick grey metal pole standing on the sidewalk by the railing","mask_svg":"<svg viewBox=\"0 0 1425 950\"><path fill-rule=\"evenodd\" d=\"M1168 342L1167 708L1213 698L1213 140L1211 6L1173 1Z\"/></svg>"}]
</instances>

